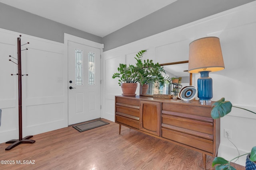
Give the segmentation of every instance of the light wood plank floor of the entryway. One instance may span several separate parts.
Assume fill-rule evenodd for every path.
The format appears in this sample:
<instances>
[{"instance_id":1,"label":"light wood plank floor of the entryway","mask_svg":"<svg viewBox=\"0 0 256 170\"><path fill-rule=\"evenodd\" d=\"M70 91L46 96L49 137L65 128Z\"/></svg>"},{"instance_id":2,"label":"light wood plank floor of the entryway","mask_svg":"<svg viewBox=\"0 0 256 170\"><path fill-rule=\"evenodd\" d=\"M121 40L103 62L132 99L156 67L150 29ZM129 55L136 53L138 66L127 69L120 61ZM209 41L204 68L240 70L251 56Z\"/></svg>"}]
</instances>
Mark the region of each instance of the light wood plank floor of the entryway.
<instances>
[{"instance_id":1,"label":"light wood plank floor of the entryway","mask_svg":"<svg viewBox=\"0 0 256 170\"><path fill-rule=\"evenodd\" d=\"M202 170L202 154L167 141L145 135L118 124L97 127L82 133L66 127L31 139L33 144L20 144L5 150L10 144L0 144L0 160L15 164L0 164L0 170ZM34 164L16 164L16 160L34 160ZM207 169L212 170L211 156ZM237 170L244 170L236 165Z\"/></svg>"}]
</instances>

